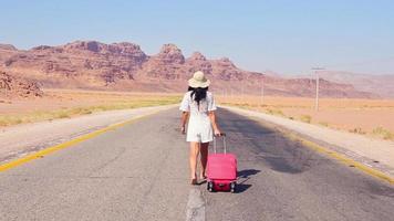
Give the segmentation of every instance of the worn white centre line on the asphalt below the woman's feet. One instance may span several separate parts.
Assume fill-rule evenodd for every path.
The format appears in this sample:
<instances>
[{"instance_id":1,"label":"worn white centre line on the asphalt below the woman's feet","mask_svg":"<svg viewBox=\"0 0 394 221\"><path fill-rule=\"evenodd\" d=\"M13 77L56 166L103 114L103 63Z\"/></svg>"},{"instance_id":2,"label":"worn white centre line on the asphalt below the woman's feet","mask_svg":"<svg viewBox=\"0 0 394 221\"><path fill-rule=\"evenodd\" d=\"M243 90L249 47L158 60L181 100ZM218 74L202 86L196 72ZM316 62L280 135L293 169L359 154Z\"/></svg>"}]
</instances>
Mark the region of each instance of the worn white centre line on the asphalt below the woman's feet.
<instances>
[{"instance_id":1,"label":"worn white centre line on the asphalt below the woman's feet","mask_svg":"<svg viewBox=\"0 0 394 221\"><path fill-rule=\"evenodd\" d=\"M201 191L197 188L190 189L186 209L186 221L205 221L205 200Z\"/></svg>"}]
</instances>

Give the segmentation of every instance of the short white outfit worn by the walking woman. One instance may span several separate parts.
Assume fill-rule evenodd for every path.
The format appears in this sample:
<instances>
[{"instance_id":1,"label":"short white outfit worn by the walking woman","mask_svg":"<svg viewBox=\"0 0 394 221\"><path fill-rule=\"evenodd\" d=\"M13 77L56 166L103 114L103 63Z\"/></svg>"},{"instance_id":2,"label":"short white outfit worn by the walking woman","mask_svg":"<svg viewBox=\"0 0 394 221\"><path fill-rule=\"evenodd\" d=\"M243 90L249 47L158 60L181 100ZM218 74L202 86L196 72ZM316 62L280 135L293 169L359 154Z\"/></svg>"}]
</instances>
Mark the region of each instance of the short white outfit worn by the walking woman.
<instances>
[{"instance_id":1,"label":"short white outfit worn by the walking woman","mask_svg":"<svg viewBox=\"0 0 394 221\"><path fill-rule=\"evenodd\" d=\"M199 103L190 97L191 92L187 92L180 103L179 109L189 112L189 123L187 125L186 141L209 143L214 140L212 126L208 112L216 110L212 93L207 92L207 97Z\"/></svg>"}]
</instances>

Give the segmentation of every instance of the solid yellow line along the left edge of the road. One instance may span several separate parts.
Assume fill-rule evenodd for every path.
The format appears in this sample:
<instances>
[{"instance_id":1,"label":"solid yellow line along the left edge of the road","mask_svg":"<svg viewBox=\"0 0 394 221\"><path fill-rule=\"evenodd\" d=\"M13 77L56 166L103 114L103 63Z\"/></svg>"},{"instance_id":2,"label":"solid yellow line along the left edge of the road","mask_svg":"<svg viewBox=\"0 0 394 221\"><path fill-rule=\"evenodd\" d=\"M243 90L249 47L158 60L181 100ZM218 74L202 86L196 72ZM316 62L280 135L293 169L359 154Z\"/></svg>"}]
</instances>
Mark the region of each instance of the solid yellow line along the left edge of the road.
<instances>
[{"instance_id":1,"label":"solid yellow line along the left edge of the road","mask_svg":"<svg viewBox=\"0 0 394 221\"><path fill-rule=\"evenodd\" d=\"M76 137L74 139L71 139L69 141L65 141L65 143L62 143L62 144L59 144L59 145L55 145L55 146L52 146L52 147L48 147L45 149L42 149L42 150L39 150L37 152L33 152L31 155L28 155L25 157L22 157L22 158L19 158L19 159L15 159L15 160L12 160L10 162L7 162L7 164L3 164L3 165L0 165L0 172L2 171L6 171L8 169L11 169L13 167L17 167L17 166L20 166L20 165L23 165L25 162L29 162L33 159L38 159L38 158L42 158L44 157L45 155L49 155L51 152L54 152L54 151L58 151L58 150L61 150L61 149L64 149L64 148L68 148L68 147L71 147L71 146L74 146L76 144L80 144L84 140L87 140L87 139L91 139L93 137L96 137L101 134L104 134L108 130L113 130L113 129L116 129L118 127L122 127L122 126L125 126L125 125L128 125L128 124L132 124L132 123L135 123L142 118L145 118L145 117L148 117L148 116L152 116L156 113L158 113L160 110L157 110L157 112L154 112L154 113L151 113L151 114L146 114L146 115L143 115L143 116L138 116L138 117L134 117L132 119L128 119L126 122L122 122L122 123L116 123L116 124L112 124L105 128L102 128L102 129L97 129L97 130L94 130L92 133L89 133L89 134L85 134L85 135L82 135L80 137Z\"/></svg>"}]
</instances>

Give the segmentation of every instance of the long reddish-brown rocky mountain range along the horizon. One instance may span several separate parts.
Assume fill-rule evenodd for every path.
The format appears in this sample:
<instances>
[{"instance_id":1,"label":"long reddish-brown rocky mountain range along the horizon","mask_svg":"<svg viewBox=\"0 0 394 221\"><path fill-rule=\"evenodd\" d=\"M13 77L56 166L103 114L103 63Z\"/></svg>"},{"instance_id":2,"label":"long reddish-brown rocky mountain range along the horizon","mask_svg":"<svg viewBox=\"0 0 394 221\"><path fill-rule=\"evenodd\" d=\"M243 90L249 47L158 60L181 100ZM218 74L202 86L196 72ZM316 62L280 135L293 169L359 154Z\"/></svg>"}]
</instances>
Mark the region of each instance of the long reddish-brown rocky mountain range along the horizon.
<instances>
[{"instance_id":1,"label":"long reddish-brown rocky mountain range along the horizon","mask_svg":"<svg viewBox=\"0 0 394 221\"><path fill-rule=\"evenodd\" d=\"M228 57L208 60L199 52L185 57L175 44L163 45L154 55L127 42L75 41L25 51L0 45L0 63L8 73L37 81L43 87L184 92L186 81L201 70L211 78L211 90L218 93L259 94L262 82L268 95L313 96L315 90L312 80L248 72ZM322 96L375 97L350 84L322 80L320 85Z\"/></svg>"}]
</instances>

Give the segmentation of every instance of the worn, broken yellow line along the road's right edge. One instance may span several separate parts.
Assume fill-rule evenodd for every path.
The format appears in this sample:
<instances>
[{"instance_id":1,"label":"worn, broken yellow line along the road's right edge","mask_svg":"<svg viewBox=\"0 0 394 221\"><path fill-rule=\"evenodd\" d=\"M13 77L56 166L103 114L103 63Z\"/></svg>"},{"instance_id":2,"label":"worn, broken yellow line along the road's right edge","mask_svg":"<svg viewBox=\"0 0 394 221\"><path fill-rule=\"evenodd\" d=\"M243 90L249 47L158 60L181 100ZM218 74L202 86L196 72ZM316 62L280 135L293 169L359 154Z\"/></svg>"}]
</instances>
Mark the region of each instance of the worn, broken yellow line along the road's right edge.
<instances>
[{"instance_id":1,"label":"worn, broken yellow line along the road's right edge","mask_svg":"<svg viewBox=\"0 0 394 221\"><path fill-rule=\"evenodd\" d=\"M263 124L261 122L260 118L257 118L257 117L252 117L252 116L248 116L249 118L253 119L253 120L257 120L259 122L260 124L267 126L266 124ZM270 124L273 124L273 123L270 123ZM391 185L394 185L394 178L390 177L388 175L385 175L374 168L371 168L371 167L367 167L361 162L357 162L342 154L339 154L332 149L329 149L329 148L325 148L321 145L318 145L317 143L314 141L311 141L309 139L305 139L299 135L296 135L294 133L290 133L290 134L284 134L281 129L279 129L281 131L281 134L283 134L283 136L288 137L289 139L291 140L298 140L298 141L301 141L303 144L303 146L317 151L317 152L320 152L320 154L324 154L325 156L329 156L346 166L352 166L370 176L373 176L375 178L379 178L379 179L382 179L384 181L387 181L390 182Z\"/></svg>"}]
</instances>

